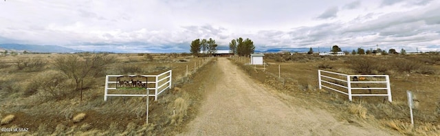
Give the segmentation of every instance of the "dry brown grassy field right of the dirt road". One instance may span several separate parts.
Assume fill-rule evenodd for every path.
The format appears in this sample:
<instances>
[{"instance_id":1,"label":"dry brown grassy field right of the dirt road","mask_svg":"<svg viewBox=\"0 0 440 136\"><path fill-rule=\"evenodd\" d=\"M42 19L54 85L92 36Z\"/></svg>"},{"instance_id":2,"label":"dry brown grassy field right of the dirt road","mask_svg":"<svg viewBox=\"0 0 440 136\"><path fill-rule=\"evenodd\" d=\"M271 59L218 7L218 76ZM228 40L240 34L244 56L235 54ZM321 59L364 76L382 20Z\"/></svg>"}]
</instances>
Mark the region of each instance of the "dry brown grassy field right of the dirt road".
<instances>
[{"instance_id":1,"label":"dry brown grassy field right of the dirt road","mask_svg":"<svg viewBox=\"0 0 440 136\"><path fill-rule=\"evenodd\" d=\"M308 106L337 113L340 120L368 122L405 135L440 135L440 56L311 56L265 54L263 65L243 65L249 58L231 58L252 78L278 91L303 98ZM281 78L278 78L278 65ZM345 74L388 74L393 102L385 97L353 97L318 89L318 69ZM406 91L415 95L415 127L410 126ZM341 112L342 111L342 112Z\"/></svg>"}]
</instances>

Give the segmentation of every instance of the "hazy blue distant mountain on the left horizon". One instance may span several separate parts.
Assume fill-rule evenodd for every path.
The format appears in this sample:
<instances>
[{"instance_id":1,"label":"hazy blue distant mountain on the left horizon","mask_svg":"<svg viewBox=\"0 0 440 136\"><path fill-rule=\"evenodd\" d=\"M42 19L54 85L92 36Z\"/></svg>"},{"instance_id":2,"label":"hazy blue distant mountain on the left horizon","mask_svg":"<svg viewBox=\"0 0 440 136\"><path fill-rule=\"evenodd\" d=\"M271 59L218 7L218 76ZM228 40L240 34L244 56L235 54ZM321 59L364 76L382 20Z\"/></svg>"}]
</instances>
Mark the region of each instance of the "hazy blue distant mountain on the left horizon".
<instances>
[{"instance_id":1,"label":"hazy blue distant mountain on the left horizon","mask_svg":"<svg viewBox=\"0 0 440 136\"><path fill-rule=\"evenodd\" d=\"M0 44L0 48L16 51L40 52L40 53L66 53L66 52L84 52L81 50L70 49L57 45L20 45L13 43Z\"/></svg>"}]
</instances>

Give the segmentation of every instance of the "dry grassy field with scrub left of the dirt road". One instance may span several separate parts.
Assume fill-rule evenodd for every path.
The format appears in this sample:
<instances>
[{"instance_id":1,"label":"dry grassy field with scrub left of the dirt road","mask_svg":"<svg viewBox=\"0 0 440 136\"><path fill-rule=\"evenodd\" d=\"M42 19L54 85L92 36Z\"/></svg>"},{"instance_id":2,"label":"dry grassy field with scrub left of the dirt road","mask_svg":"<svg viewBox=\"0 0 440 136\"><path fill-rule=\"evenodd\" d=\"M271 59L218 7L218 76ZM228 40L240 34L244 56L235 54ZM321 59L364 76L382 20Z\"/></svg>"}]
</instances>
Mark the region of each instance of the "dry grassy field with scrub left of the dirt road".
<instances>
[{"instance_id":1,"label":"dry grassy field with scrub left of the dirt road","mask_svg":"<svg viewBox=\"0 0 440 136\"><path fill-rule=\"evenodd\" d=\"M87 57L97 65L78 68ZM76 76L63 73L56 65L63 59L58 58L78 59L73 64L65 61L72 66L65 69L76 67L73 75L83 82L76 84ZM203 99L199 82L209 74L195 73L210 69L210 63L201 63L204 58L184 54L23 54L0 59L0 128L28 131L0 135L175 135L195 116L197 102ZM148 125L146 98L103 100L106 74L155 74L168 69L173 70L174 88L161 93L157 101L150 98ZM88 74L81 77L86 70Z\"/></svg>"}]
</instances>

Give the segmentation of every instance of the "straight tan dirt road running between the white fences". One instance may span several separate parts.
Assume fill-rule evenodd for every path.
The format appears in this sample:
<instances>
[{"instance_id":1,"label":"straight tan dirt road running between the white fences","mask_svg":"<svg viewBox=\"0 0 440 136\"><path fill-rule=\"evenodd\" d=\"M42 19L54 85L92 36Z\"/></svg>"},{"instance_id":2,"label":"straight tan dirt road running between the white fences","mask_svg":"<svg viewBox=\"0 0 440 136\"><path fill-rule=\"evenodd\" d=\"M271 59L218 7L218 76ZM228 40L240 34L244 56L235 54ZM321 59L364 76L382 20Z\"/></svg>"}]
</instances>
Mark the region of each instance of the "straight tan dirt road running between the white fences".
<instances>
[{"instance_id":1,"label":"straight tan dirt road running between the white fences","mask_svg":"<svg viewBox=\"0 0 440 136\"><path fill-rule=\"evenodd\" d=\"M298 105L304 101L282 102L226 58L215 65L199 114L179 135L396 135L340 122L327 111Z\"/></svg>"}]
</instances>

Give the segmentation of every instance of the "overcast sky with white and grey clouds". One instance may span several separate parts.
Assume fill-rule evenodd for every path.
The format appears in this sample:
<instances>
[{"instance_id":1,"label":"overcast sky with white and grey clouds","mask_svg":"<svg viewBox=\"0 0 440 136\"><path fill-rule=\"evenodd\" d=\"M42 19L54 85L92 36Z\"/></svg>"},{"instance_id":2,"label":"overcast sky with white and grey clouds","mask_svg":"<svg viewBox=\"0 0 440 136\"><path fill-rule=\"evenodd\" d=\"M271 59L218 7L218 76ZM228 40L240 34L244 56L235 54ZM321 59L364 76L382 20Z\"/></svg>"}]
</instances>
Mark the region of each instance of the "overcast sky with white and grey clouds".
<instances>
[{"instance_id":1,"label":"overcast sky with white and grey clouds","mask_svg":"<svg viewBox=\"0 0 440 136\"><path fill-rule=\"evenodd\" d=\"M261 51L440 51L437 0L6 0L0 26L0 43L85 51L189 52L195 38L238 37Z\"/></svg>"}]
</instances>

